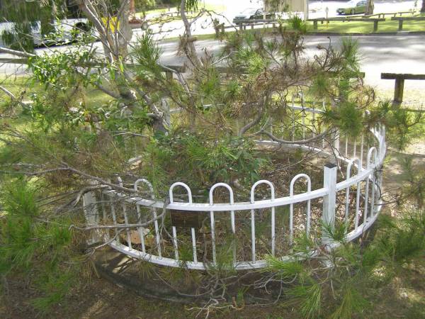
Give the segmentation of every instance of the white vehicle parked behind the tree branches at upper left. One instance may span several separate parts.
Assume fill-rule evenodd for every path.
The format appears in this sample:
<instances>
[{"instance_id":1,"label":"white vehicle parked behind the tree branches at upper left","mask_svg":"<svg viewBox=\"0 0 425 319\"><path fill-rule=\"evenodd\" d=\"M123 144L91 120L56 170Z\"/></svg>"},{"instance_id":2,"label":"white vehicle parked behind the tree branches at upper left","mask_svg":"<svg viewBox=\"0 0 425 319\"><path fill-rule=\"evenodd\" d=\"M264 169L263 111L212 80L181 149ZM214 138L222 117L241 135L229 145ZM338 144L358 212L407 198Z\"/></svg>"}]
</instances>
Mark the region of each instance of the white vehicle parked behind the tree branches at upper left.
<instances>
[{"instance_id":1,"label":"white vehicle parked behind the tree branches at upper left","mask_svg":"<svg viewBox=\"0 0 425 319\"><path fill-rule=\"evenodd\" d=\"M54 30L58 32L53 36L43 37L41 34L41 23L40 21L33 23L31 28L31 37L35 46L49 45L52 43L69 43L76 40L77 35L82 32L90 32L94 35L92 28L89 25L89 20L86 18L69 18L53 23ZM10 41L6 38L8 34L16 33L15 23L4 22L0 23L0 46L8 47Z\"/></svg>"}]
</instances>

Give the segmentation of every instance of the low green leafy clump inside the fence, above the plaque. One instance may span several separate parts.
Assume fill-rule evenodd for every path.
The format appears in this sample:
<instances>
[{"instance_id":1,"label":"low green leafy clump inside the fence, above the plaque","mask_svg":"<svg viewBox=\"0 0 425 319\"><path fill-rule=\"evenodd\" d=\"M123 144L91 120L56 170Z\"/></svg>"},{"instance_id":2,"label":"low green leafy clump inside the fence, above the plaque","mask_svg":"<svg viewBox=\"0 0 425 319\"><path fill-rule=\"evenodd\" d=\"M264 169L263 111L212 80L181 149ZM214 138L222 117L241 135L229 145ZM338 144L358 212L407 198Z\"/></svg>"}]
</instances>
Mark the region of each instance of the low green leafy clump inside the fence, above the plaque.
<instances>
[{"instance_id":1,"label":"low green leafy clump inside the fence, above the plaque","mask_svg":"<svg viewBox=\"0 0 425 319\"><path fill-rule=\"evenodd\" d=\"M251 142L239 138L212 140L190 131L152 140L143 157L148 163L143 174L154 178L154 184L158 175L152 174L168 172L171 180L191 177L193 182L201 181L205 184L201 187L233 179L251 184L259 179L261 170L268 164L266 159L257 154ZM182 162L185 163L183 167L179 164Z\"/></svg>"}]
</instances>

